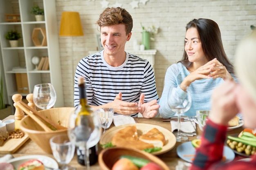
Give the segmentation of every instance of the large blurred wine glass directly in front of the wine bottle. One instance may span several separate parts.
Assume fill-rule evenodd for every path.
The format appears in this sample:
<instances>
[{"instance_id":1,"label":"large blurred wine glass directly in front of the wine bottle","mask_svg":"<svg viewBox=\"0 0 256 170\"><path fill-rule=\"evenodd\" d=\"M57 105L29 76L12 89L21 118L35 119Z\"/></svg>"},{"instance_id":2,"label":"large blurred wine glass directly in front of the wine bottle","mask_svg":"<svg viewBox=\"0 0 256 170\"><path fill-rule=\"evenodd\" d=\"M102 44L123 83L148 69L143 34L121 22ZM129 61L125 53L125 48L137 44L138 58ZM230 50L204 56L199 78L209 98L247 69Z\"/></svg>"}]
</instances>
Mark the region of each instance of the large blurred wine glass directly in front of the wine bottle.
<instances>
[{"instance_id":1,"label":"large blurred wine glass directly in front of the wine bottle","mask_svg":"<svg viewBox=\"0 0 256 170\"><path fill-rule=\"evenodd\" d=\"M68 136L70 141L77 147L85 148L84 160L87 170L90 170L89 148L99 142L102 129L95 111L90 109L90 114L82 115L79 114L80 108L81 106L79 105L70 115Z\"/></svg>"}]
</instances>

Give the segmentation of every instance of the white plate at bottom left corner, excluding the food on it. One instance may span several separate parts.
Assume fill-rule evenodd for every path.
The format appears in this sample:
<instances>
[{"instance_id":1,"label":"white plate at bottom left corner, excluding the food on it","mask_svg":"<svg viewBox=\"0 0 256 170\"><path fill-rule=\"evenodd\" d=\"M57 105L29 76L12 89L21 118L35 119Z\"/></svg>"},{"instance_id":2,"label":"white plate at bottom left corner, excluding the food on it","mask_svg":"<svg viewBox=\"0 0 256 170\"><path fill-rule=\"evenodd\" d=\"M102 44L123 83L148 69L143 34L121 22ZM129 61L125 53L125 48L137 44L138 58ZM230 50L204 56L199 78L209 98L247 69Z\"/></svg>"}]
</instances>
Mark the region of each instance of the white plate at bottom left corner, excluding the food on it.
<instances>
[{"instance_id":1,"label":"white plate at bottom left corner, excluding the food on it","mask_svg":"<svg viewBox=\"0 0 256 170\"><path fill-rule=\"evenodd\" d=\"M38 159L39 161L43 162L45 166L49 168L58 169L58 163L54 159L47 156L43 156L43 155L26 155L22 157L16 157L16 158L10 159L9 161L7 161L7 163L11 163L14 166L14 168L17 169L21 163L24 163L31 159Z\"/></svg>"}]
</instances>

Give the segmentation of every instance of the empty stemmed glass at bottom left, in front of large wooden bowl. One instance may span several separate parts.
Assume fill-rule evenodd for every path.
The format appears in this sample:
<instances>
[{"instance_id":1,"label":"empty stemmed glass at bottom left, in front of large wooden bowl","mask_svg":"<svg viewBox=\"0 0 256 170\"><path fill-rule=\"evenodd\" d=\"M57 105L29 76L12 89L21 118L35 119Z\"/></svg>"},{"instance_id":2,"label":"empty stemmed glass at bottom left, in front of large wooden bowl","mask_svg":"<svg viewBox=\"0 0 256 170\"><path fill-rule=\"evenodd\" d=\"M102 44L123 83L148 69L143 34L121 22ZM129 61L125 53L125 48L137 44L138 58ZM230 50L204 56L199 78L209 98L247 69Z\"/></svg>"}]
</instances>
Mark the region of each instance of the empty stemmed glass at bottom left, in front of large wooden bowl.
<instances>
[{"instance_id":1,"label":"empty stemmed glass at bottom left, in front of large wooden bowl","mask_svg":"<svg viewBox=\"0 0 256 170\"><path fill-rule=\"evenodd\" d=\"M52 154L56 161L61 164L61 170L74 170L75 168L68 166L72 158L76 146L70 141L67 134L56 135L50 139Z\"/></svg>"}]
</instances>

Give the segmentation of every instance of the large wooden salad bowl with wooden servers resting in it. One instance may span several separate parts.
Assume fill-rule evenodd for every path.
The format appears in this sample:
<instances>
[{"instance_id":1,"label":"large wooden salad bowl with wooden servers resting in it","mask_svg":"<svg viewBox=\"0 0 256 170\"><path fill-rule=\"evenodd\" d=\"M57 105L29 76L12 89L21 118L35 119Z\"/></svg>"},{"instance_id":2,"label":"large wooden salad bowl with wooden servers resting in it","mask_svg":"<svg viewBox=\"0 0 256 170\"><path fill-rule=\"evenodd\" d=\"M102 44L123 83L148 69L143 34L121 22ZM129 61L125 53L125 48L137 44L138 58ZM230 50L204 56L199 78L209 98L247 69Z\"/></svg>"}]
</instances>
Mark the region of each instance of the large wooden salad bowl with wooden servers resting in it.
<instances>
[{"instance_id":1,"label":"large wooden salad bowl with wooden servers resting in it","mask_svg":"<svg viewBox=\"0 0 256 170\"><path fill-rule=\"evenodd\" d=\"M47 110L38 111L42 116L45 116L53 122L59 123L64 127L68 127L68 120L74 107L59 107ZM67 134L67 129L46 132L37 122L29 116L22 118L20 121L20 129L24 131L29 138L34 141L46 153L52 153L49 140L51 137L59 134Z\"/></svg>"}]
</instances>

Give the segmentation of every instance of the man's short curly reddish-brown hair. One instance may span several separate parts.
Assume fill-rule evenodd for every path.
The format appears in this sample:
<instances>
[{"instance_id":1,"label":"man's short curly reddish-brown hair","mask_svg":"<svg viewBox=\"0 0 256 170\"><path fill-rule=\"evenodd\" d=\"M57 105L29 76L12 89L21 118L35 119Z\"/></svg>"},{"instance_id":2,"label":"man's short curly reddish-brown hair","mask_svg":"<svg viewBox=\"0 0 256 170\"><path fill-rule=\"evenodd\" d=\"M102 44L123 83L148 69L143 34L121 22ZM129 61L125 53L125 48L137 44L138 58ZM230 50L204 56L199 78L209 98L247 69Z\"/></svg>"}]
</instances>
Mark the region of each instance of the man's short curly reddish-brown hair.
<instances>
[{"instance_id":1,"label":"man's short curly reddish-brown hair","mask_svg":"<svg viewBox=\"0 0 256 170\"><path fill-rule=\"evenodd\" d=\"M115 24L124 24L126 26L126 35L132 31L132 16L125 9L117 8L106 8L101 15L97 24L100 27L110 26Z\"/></svg>"}]
</instances>

